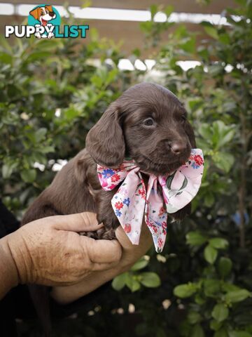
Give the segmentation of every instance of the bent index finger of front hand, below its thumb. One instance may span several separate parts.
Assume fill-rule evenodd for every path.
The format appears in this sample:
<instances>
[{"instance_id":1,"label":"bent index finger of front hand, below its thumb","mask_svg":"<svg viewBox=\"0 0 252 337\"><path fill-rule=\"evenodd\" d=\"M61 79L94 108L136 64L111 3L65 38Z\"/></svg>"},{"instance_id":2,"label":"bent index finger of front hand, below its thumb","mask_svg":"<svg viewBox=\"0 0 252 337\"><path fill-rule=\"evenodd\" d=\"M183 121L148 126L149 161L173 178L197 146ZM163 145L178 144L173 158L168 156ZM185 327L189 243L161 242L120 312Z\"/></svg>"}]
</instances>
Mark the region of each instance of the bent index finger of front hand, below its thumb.
<instances>
[{"instance_id":1,"label":"bent index finger of front hand, below its thumb","mask_svg":"<svg viewBox=\"0 0 252 337\"><path fill-rule=\"evenodd\" d=\"M117 240L94 240L90 237L80 237L80 242L85 246L85 253L87 253L90 261L96 265L94 270L100 270L99 265L111 265L118 263L122 256L122 248Z\"/></svg>"}]
</instances>

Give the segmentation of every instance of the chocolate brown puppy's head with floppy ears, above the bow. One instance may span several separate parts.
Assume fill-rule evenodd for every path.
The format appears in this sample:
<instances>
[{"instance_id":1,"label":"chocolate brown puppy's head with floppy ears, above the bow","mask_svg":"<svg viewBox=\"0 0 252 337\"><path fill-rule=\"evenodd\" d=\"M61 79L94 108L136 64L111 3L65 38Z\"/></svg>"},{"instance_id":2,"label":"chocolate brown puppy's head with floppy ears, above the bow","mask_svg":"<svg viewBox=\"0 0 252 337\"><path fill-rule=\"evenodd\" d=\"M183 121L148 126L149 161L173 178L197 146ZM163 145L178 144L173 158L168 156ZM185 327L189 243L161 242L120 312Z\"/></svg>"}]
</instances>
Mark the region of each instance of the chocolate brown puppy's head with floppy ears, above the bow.
<instances>
[{"instance_id":1,"label":"chocolate brown puppy's head with floppy ears, above the bow","mask_svg":"<svg viewBox=\"0 0 252 337\"><path fill-rule=\"evenodd\" d=\"M87 151L104 166L118 166L130 157L142 171L169 173L196 146L186 117L171 91L157 84L137 84L112 103L87 134Z\"/></svg>"}]
</instances>

